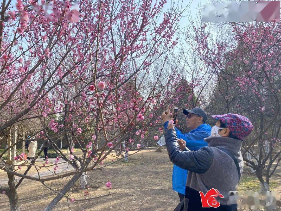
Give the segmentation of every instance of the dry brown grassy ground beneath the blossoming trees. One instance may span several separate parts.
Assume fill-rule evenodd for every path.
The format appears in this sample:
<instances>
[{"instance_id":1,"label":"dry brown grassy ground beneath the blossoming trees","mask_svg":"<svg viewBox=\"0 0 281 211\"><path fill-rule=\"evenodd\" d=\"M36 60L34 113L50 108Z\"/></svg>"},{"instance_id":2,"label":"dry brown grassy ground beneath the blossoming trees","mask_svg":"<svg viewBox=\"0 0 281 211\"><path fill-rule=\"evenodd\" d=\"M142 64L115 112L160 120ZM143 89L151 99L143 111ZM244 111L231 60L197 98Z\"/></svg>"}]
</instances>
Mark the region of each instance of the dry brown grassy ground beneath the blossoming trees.
<instances>
[{"instance_id":1,"label":"dry brown grassy ground beneath the blossoming trees","mask_svg":"<svg viewBox=\"0 0 281 211\"><path fill-rule=\"evenodd\" d=\"M111 160L108 156L106 160ZM144 150L130 156L128 162L119 161L100 170L89 172L88 197L108 193L107 179L112 182L110 192L117 194L74 203L71 210L173 210L179 202L172 190L173 165L167 151ZM67 179L46 183L60 190ZM249 169L245 168L238 190L259 190L259 182ZM271 190L281 190L280 174L274 176ZM71 188L71 198L84 198L79 181ZM21 210L43 210L55 196L41 183L26 181L18 188ZM7 196L0 195L0 210L9 210ZM55 210L69 210L66 199L62 199Z\"/></svg>"}]
</instances>

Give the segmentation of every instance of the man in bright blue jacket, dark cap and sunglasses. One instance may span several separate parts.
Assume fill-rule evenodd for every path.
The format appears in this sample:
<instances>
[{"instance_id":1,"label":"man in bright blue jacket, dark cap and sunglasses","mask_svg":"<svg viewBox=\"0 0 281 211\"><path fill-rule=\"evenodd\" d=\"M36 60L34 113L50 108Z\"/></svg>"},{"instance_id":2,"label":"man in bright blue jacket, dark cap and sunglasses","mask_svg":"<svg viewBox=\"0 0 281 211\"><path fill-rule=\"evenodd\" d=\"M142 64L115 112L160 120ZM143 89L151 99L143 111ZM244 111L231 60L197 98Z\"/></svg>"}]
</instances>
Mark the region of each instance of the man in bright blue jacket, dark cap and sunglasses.
<instances>
[{"instance_id":1,"label":"man in bright blue jacket, dark cap and sunglasses","mask_svg":"<svg viewBox=\"0 0 281 211\"><path fill-rule=\"evenodd\" d=\"M170 115L166 115L165 112L162 114L162 119L164 121L165 130L167 130ZM180 130L175 127L177 138L182 139L190 150L198 150L202 147L206 147L208 144L204 141L204 138L209 137L211 131L210 125L205 124L207 120L206 112L201 108L193 108L191 110L183 109L183 114L186 115L186 124L191 131L182 134ZM186 178L187 170L174 165L172 184L173 190L178 192L180 201L182 201L185 195Z\"/></svg>"}]
</instances>

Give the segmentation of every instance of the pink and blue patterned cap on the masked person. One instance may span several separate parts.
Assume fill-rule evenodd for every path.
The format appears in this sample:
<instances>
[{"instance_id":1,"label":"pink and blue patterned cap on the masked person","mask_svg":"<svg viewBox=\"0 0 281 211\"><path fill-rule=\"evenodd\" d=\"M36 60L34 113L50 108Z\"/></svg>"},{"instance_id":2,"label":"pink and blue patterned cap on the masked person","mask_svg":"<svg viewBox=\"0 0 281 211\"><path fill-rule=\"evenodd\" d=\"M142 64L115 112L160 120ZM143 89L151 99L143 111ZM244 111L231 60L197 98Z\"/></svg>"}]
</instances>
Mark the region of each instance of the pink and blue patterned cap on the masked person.
<instances>
[{"instance_id":1,"label":"pink and blue patterned cap on the masked person","mask_svg":"<svg viewBox=\"0 0 281 211\"><path fill-rule=\"evenodd\" d=\"M253 129L251 121L245 116L238 114L223 114L213 115L212 117L225 124L230 132L240 140L243 140L248 136Z\"/></svg>"}]
</instances>

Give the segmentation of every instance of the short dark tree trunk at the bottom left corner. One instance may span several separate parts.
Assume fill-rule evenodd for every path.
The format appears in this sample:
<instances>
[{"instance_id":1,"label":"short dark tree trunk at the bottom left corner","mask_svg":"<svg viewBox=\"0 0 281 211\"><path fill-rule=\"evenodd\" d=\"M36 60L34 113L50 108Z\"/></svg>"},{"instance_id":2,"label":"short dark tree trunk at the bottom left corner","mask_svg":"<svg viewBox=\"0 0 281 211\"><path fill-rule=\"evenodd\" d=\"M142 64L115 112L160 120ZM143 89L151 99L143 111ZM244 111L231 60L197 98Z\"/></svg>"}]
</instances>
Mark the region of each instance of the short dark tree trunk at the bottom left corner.
<instances>
[{"instance_id":1,"label":"short dark tree trunk at the bottom left corner","mask_svg":"<svg viewBox=\"0 0 281 211\"><path fill-rule=\"evenodd\" d=\"M9 168L10 170L13 170L12 168ZM10 202L10 208L11 211L20 211L19 208L19 198L17 195L17 189L15 186L15 178L12 174L8 174L8 185L10 187L10 190L8 192L9 202Z\"/></svg>"}]
</instances>

